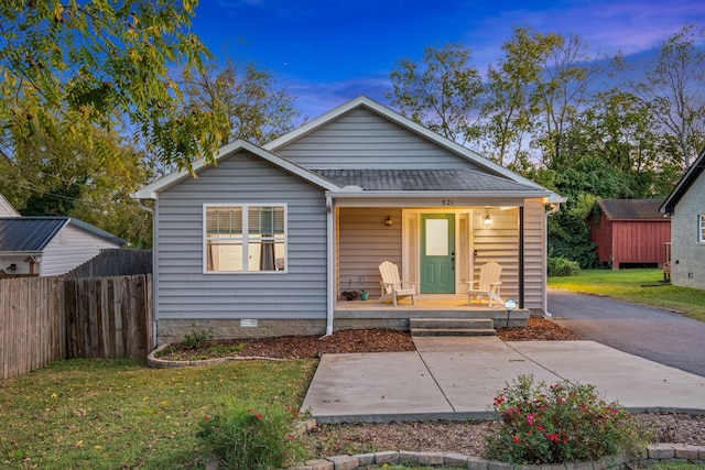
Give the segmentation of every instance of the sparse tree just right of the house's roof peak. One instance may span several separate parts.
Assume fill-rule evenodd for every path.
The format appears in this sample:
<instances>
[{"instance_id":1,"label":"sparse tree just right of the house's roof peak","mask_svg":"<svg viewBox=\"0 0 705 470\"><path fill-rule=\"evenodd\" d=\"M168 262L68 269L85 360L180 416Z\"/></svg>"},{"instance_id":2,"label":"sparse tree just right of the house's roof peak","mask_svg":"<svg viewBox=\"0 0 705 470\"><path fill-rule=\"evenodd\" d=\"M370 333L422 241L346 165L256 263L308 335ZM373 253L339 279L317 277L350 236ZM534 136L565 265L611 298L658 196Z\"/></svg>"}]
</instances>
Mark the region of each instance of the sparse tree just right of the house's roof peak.
<instances>
[{"instance_id":1,"label":"sparse tree just right of the house's roof peak","mask_svg":"<svg viewBox=\"0 0 705 470\"><path fill-rule=\"evenodd\" d=\"M399 61L389 78L384 96L404 116L462 144L479 136L482 79L469 48L427 47L420 63Z\"/></svg>"}]
</instances>

